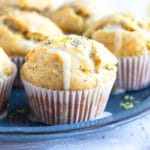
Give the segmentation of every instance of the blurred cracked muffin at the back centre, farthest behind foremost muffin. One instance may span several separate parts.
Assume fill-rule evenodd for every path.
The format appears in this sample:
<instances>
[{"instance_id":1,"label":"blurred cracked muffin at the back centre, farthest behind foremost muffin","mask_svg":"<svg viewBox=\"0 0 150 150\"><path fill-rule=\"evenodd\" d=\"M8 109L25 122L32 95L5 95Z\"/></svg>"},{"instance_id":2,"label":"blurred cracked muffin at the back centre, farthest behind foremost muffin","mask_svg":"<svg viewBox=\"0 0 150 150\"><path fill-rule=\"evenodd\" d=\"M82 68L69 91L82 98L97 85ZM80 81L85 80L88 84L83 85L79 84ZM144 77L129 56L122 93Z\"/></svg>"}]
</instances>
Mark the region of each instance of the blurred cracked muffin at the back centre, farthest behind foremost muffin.
<instances>
[{"instance_id":1,"label":"blurred cracked muffin at the back centre, farthest behind foremost muffin","mask_svg":"<svg viewBox=\"0 0 150 150\"><path fill-rule=\"evenodd\" d=\"M67 34L81 35L85 29L97 18L114 12L104 9L100 1L73 1L64 4L51 13L51 19ZM103 11L104 10L104 11Z\"/></svg>"}]
</instances>

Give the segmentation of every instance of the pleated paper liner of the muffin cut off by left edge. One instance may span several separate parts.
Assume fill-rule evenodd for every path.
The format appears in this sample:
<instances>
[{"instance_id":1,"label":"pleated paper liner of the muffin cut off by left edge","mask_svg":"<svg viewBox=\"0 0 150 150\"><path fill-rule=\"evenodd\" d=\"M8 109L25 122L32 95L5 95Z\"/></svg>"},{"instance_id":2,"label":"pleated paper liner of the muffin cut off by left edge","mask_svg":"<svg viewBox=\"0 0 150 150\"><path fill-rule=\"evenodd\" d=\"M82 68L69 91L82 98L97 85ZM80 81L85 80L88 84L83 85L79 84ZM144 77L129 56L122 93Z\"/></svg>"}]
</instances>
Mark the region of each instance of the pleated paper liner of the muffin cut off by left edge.
<instances>
[{"instance_id":1,"label":"pleated paper liner of the muffin cut off by left edge","mask_svg":"<svg viewBox=\"0 0 150 150\"><path fill-rule=\"evenodd\" d=\"M6 114L5 111L16 73L17 68L14 64L14 73L11 76L0 79L0 118Z\"/></svg>"}]
</instances>

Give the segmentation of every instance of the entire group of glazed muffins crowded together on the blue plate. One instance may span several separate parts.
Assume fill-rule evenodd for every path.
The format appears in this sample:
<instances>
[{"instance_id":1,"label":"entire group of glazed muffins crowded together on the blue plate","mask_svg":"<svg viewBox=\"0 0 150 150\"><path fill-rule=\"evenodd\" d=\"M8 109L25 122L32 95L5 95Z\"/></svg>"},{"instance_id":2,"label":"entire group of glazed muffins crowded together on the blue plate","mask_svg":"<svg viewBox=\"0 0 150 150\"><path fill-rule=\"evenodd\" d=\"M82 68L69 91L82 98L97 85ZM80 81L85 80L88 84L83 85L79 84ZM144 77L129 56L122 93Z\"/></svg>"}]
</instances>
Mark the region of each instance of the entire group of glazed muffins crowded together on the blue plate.
<instances>
[{"instance_id":1,"label":"entire group of glazed muffins crowded together on the blue plate","mask_svg":"<svg viewBox=\"0 0 150 150\"><path fill-rule=\"evenodd\" d=\"M114 11L104 17L99 5L78 1L55 11L50 0L0 3L0 47L16 64L14 86L23 82L37 121L94 120L104 112L113 85L131 91L150 84L148 19ZM9 96L5 90L10 91L16 73L4 51L0 51L1 112Z\"/></svg>"}]
</instances>

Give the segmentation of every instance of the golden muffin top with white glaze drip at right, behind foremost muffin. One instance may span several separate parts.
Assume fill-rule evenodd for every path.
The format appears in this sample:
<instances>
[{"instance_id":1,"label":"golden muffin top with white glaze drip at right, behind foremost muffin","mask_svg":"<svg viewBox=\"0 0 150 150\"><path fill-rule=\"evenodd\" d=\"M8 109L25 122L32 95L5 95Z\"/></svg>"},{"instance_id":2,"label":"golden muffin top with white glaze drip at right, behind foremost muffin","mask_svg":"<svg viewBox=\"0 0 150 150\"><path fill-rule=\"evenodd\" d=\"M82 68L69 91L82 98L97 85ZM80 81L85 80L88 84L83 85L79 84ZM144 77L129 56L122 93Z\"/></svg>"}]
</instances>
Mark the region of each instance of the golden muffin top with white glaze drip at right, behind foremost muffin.
<instances>
[{"instance_id":1,"label":"golden muffin top with white glaze drip at right, behind foremost muffin","mask_svg":"<svg viewBox=\"0 0 150 150\"><path fill-rule=\"evenodd\" d=\"M149 33L122 15L107 16L93 23L84 35L102 42L119 57L141 56L150 52Z\"/></svg>"}]
</instances>

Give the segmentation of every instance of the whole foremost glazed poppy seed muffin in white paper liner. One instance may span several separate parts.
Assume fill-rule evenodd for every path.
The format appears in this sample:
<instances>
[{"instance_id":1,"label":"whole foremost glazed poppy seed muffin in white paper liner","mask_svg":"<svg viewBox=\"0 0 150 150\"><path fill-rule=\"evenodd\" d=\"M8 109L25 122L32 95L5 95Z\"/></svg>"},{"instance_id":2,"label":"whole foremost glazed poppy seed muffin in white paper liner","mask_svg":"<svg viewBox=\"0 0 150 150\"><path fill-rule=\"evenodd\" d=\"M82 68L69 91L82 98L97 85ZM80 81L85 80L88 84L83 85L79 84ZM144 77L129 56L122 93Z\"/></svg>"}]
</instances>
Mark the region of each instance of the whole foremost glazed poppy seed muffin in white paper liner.
<instances>
[{"instance_id":1,"label":"whole foremost glazed poppy seed muffin in white paper liner","mask_svg":"<svg viewBox=\"0 0 150 150\"><path fill-rule=\"evenodd\" d=\"M35 120L67 124L100 117L116 78L116 57L96 41L75 35L42 44L21 69Z\"/></svg>"}]
</instances>

